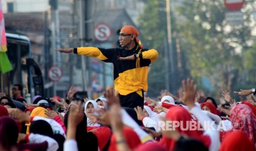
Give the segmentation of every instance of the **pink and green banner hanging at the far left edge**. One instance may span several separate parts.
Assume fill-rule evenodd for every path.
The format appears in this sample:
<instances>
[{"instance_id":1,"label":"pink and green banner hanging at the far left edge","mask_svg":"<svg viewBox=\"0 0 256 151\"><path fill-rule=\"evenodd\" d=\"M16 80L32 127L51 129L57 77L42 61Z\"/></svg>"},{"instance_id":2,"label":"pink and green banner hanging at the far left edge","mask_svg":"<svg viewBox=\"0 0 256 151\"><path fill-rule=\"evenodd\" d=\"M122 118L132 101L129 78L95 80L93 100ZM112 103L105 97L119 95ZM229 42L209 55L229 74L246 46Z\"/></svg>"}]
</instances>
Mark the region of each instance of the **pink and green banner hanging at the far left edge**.
<instances>
[{"instance_id":1,"label":"pink and green banner hanging at the far left edge","mask_svg":"<svg viewBox=\"0 0 256 151\"><path fill-rule=\"evenodd\" d=\"M13 68L6 54L6 51L7 51L6 28L4 27L4 15L3 15L1 0L0 0L0 41L1 41L0 73L3 74L11 71Z\"/></svg>"}]
</instances>

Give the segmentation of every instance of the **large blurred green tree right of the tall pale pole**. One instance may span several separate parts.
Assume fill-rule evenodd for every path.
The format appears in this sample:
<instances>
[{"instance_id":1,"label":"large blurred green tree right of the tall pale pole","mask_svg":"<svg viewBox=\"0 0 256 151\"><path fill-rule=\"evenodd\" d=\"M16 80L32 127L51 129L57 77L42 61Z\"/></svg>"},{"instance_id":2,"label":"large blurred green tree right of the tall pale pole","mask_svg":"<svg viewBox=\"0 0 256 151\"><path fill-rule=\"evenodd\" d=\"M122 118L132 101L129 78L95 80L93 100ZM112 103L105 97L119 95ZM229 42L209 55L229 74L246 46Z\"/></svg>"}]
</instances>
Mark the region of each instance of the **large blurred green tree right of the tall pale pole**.
<instances>
[{"instance_id":1,"label":"large blurred green tree right of the tall pale pole","mask_svg":"<svg viewBox=\"0 0 256 151\"><path fill-rule=\"evenodd\" d=\"M190 74L198 82L202 75L209 77L217 94L224 89L231 90L233 72L238 69L241 75L243 69L241 54L237 51L245 51L252 42L252 10L242 9L244 22L237 26L227 24L225 11L222 0L184 1L177 7L178 14L185 18L177 28Z\"/></svg>"}]
</instances>

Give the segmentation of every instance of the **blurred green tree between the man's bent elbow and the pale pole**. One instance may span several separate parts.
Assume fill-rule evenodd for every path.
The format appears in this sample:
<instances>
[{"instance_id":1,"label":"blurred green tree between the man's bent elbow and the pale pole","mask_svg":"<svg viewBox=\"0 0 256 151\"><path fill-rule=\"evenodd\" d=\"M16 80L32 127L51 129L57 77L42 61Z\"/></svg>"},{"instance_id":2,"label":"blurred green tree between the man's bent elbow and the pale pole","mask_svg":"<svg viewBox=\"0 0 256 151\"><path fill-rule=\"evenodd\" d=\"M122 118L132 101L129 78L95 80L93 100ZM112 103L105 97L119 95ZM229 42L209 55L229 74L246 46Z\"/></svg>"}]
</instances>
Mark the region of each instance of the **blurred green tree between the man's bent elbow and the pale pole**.
<instances>
[{"instance_id":1,"label":"blurred green tree between the man's bent elbow and the pale pole","mask_svg":"<svg viewBox=\"0 0 256 151\"><path fill-rule=\"evenodd\" d=\"M166 37L165 1L148 0L144 13L139 16L140 32L144 36L145 48L154 48L159 53L159 59L150 68L148 77L149 96L157 96L161 89L165 89L164 68L164 39Z\"/></svg>"}]
</instances>

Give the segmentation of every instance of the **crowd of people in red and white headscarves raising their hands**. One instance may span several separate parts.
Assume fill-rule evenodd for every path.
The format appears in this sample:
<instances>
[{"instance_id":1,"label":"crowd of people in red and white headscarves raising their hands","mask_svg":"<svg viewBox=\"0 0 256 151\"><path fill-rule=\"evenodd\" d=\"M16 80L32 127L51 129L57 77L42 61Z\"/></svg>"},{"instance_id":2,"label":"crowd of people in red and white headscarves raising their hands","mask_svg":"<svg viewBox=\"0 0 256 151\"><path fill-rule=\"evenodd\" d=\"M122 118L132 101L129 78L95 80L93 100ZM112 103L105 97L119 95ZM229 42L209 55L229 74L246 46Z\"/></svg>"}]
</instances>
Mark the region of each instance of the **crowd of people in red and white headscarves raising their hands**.
<instances>
[{"instance_id":1,"label":"crowd of people in red and white headscarves raising their hands","mask_svg":"<svg viewBox=\"0 0 256 151\"><path fill-rule=\"evenodd\" d=\"M256 150L252 92L235 92L248 95L235 102L223 91L217 104L193 80L182 84L179 96L161 91L143 108L122 107L113 88L90 100L71 87L66 99L35 96L25 108L2 93L0 150Z\"/></svg>"}]
</instances>

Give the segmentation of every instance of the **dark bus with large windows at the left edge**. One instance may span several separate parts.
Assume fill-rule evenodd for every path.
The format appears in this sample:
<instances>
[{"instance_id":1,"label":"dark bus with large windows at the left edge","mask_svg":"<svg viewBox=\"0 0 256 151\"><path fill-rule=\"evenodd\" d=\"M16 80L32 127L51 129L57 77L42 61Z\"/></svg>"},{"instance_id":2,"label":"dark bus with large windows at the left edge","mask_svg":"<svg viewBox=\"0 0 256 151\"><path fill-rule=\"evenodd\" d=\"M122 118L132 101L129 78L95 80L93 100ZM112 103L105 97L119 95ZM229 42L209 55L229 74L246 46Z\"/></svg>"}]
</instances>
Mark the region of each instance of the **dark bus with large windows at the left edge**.
<instances>
[{"instance_id":1,"label":"dark bus with large windows at the left edge","mask_svg":"<svg viewBox=\"0 0 256 151\"><path fill-rule=\"evenodd\" d=\"M13 70L0 75L0 92L12 96L14 84L23 85L23 94L43 96L43 78L38 64L31 58L28 37L17 33L6 33L7 56Z\"/></svg>"}]
</instances>

